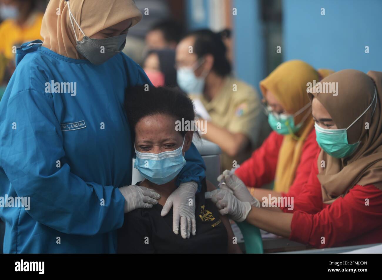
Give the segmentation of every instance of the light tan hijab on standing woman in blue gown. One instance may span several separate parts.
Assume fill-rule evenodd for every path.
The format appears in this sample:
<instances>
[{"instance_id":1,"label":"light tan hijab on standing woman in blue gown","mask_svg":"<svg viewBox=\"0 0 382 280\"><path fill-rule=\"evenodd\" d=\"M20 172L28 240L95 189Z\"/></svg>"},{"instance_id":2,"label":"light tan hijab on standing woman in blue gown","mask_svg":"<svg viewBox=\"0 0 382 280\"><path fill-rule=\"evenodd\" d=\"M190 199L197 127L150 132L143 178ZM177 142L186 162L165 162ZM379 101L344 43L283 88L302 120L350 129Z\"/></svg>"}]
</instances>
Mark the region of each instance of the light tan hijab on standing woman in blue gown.
<instances>
[{"instance_id":1,"label":"light tan hijab on standing woman in blue gown","mask_svg":"<svg viewBox=\"0 0 382 280\"><path fill-rule=\"evenodd\" d=\"M133 0L69 1L71 13L88 37L126 19L133 19L132 26L142 19L142 13ZM82 41L84 35L74 22L73 24L78 40ZM76 37L65 0L49 1L42 19L41 36L44 38L42 45L46 48L68 58L80 58L76 50Z\"/></svg>"}]
</instances>

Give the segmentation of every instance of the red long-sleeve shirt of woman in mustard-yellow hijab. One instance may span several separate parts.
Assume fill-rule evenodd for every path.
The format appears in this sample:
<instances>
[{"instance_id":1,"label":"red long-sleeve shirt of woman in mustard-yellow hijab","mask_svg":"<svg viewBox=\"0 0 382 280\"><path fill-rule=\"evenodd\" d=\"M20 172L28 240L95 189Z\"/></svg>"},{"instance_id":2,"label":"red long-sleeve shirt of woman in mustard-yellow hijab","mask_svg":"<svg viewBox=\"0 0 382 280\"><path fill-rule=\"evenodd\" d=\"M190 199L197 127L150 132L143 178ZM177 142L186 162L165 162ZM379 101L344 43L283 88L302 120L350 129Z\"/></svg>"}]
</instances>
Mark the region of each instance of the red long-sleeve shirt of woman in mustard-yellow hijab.
<instances>
[{"instance_id":1,"label":"red long-sleeve shirt of woman in mustard-yellow hijab","mask_svg":"<svg viewBox=\"0 0 382 280\"><path fill-rule=\"evenodd\" d=\"M261 187L269 184L275 178L278 152L283 141L283 135L272 131L261 147L252 153L235 171L241 181L248 187ZM301 187L308 181L312 163L319 151L316 142L316 131L312 130L305 139L299 165L296 169L295 179L287 194L282 196L295 196L301 192Z\"/></svg>"}]
</instances>

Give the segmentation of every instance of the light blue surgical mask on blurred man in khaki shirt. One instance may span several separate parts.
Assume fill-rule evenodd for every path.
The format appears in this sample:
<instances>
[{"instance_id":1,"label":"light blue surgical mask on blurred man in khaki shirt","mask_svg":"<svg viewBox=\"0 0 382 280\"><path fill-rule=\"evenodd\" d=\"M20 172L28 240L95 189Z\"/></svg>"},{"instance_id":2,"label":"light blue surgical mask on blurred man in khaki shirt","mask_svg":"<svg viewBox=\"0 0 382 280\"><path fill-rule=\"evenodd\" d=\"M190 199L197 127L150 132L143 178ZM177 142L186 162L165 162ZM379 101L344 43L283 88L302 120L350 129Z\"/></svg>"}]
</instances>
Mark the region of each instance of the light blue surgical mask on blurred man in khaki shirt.
<instances>
[{"instance_id":1,"label":"light blue surgical mask on blurred man in khaki shirt","mask_svg":"<svg viewBox=\"0 0 382 280\"><path fill-rule=\"evenodd\" d=\"M181 67L176 71L179 87L188 94L202 94L204 90L207 74L203 73L201 77L196 77L194 70L201 65L199 60L196 63L196 66Z\"/></svg>"}]
</instances>

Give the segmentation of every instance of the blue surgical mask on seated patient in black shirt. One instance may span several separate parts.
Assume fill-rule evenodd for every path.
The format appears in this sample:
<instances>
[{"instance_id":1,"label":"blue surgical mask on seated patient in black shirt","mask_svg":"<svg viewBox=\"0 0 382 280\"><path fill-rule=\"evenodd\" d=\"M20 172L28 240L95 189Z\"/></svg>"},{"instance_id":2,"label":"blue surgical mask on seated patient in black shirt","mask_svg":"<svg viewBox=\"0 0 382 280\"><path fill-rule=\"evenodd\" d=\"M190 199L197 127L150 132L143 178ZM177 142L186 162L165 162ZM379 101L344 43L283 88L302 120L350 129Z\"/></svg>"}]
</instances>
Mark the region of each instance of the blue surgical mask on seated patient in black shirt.
<instances>
[{"instance_id":1,"label":"blue surgical mask on seated patient in black shirt","mask_svg":"<svg viewBox=\"0 0 382 280\"><path fill-rule=\"evenodd\" d=\"M184 144L185 138L178 149L159 154L138 152L134 145L137 154L134 168L138 169L139 173L150 182L157 185L166 184L174 179L186 165L185 157L183 157Z\"/></svg>"}]
</instances>

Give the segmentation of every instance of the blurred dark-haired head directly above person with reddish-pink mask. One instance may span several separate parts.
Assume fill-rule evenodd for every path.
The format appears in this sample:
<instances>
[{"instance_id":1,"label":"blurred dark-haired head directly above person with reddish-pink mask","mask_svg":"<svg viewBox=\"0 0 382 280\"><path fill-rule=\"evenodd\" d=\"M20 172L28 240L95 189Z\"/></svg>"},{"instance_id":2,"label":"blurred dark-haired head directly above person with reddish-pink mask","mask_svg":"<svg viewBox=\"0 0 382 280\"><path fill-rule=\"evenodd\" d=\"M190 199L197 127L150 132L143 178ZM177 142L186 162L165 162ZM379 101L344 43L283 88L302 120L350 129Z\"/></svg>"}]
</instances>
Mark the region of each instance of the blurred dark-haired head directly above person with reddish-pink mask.
<instances>
[{"instance_id":1,"label":"blurred dark-haired head directly above person with reddish-pink mask","mask_svg":"<svg viewBox=\"0 0 382 280\"><path fill-rule=\"evenodd\" d=\"M157 22L146 34L146 47L148 50L175 50L182 33L179 22L171 19Z\"/></svg>"}]
</instances>

